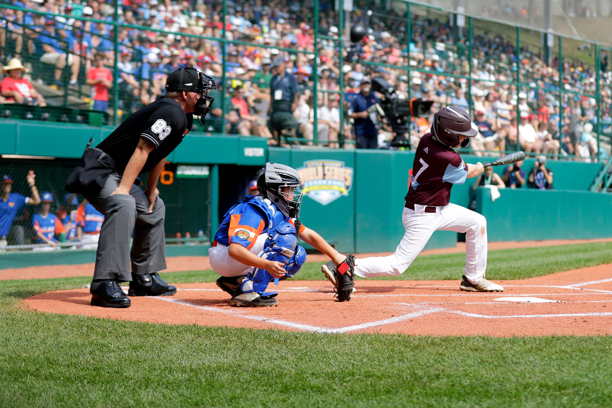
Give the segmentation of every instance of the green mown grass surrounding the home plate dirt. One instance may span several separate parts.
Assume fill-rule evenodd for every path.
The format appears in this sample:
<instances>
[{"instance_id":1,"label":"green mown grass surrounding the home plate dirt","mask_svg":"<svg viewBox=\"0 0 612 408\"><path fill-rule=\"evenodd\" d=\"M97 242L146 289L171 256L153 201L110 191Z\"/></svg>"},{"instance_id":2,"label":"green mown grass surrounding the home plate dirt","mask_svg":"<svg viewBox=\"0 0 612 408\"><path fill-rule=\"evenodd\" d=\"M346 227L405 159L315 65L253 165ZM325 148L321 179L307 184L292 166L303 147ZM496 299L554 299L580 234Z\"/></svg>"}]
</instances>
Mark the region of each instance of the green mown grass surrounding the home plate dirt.
<instances>
[{"instance_id":1,"label":"green mown grass surrounding the home plate dirt","mask_svg":"<svg viewBox=\"0 0 612 408\"><path fill-rule=\"evenodd\" d=\"M458 280L464 259L422 256L398 278ZM612 263L612 243L490 251L487 276L518 279L603 263ZM306 264L299 278L320 280L319 266ZM216 279L212 271L162 276L172 283ZM0 281L1 407L608 407L612 401L612 336L328 335L113 321L18 306L25 297L88 281Z\"/></svg>"}]
</instances>

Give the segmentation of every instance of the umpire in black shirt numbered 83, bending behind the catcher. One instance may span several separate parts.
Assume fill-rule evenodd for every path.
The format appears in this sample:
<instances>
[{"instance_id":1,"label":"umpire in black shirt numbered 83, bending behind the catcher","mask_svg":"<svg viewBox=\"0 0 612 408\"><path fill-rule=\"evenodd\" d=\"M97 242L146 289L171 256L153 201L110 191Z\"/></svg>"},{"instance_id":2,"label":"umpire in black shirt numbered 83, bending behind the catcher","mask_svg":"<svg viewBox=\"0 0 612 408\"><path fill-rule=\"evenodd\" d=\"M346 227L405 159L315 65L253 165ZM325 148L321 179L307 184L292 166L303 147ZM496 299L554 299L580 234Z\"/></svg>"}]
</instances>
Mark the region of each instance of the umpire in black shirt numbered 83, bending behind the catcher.
<instances>
[{"instance_id":1,"label":"umpire in black shirt numbered 83, bending behind the catcher","mask_svg":"<svg viewBox=\"0 0 612 408\"><path fill-rule=\"evenodd\" d=\"M125 281L130 296L176 293L157 275L166 269L166 210L155 187L166 156L191 129L193 115L203 122L212 103L209 89L215 89L210 76L195 68L177 69L168 75L166 95L133 113L97 147L88 145L67 180L67 191L82 194L105 215L89 290L92 305L129 307L119 287ZM137 177L145 172L143 191Z\"/></svg>"}]
</instances>

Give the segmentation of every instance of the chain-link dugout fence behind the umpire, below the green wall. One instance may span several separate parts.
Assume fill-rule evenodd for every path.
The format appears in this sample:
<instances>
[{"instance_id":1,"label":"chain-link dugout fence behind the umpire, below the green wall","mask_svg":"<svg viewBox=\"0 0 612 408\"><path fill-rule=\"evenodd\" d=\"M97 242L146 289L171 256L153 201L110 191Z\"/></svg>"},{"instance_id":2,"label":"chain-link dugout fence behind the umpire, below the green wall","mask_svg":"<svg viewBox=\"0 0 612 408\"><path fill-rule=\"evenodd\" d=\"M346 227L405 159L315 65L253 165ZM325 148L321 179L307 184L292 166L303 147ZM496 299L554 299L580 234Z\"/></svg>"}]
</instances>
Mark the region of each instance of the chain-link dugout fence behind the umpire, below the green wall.
<instances>
[{"instance_id":1,"label":"chain-link dugout fence behind the umpire, below the green wall","mask_svg":"<svg viewBox=\"0 0 612 408\"><path fill-rule=\"evenodd\" d=\"M0 263L2 253L95 248L103 215L83 196L64 190L75 166L76 161L0 161ZM168 245L210 242L209 177L209 166L166 163L158 189ZM141 181L146 185L146 174Z\"/></svg>"}]
</instances>

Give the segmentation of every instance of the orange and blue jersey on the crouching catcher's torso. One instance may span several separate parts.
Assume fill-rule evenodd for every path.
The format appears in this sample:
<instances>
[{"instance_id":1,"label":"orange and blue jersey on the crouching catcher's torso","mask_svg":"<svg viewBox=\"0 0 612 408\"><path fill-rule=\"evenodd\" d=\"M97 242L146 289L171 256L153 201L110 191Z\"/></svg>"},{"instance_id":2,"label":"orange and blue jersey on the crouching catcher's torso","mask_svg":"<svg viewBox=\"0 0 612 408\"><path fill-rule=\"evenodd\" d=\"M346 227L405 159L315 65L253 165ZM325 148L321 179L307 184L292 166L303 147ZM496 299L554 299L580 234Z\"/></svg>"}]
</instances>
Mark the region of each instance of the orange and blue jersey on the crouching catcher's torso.
<instances>
[{"instance_id":1,"label":"orange and blue jersey on the crouching catcher's torso","mask_svg":"<svg viewBox=\"0 0 612 408\"><path fill-rule=\"evenodd\" d=\"M295 218L286 217L273 202L261 195L248 196L225 213L212 245L238 243L250 250L259 234L275 228L283 221L294 224ZM305 228L302 224L300 234Z\"/></svg>"}]
</instances>

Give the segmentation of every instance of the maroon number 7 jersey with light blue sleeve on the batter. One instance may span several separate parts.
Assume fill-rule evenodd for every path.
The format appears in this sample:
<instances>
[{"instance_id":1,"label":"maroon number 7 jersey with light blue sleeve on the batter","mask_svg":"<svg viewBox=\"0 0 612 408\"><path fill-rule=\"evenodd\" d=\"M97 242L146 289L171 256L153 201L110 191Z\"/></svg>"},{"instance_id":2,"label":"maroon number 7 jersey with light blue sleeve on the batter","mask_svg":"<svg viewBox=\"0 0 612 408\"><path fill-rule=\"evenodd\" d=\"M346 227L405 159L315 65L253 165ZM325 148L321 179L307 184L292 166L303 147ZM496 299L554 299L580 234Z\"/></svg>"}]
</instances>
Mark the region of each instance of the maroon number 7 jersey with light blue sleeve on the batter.
<instances>
[{"instance_id":1,"label":"maroon number 7 jersey with light blue sleeve on the batter","mask_svg":"<svg viewBox=\"0 0 612 408\"><path fill-rule=\"evenodd\" d=\"M422 206L446 206L453 184L463 184L468 165L455 150L425 134L419 142L406 201Z\"/></svg>"}]
</instances>

